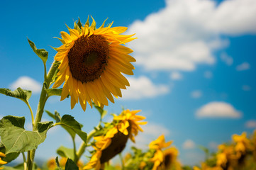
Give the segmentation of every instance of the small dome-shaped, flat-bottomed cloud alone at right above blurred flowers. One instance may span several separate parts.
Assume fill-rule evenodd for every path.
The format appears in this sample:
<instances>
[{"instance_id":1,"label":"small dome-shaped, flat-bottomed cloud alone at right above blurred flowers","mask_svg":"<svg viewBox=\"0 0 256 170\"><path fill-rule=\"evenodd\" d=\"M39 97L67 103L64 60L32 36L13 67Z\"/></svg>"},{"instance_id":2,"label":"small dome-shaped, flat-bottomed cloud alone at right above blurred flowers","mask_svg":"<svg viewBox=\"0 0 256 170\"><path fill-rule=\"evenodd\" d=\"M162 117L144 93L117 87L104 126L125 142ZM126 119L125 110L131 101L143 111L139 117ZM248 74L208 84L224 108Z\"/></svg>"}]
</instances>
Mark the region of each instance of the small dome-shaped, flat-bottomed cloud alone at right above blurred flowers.
<instances>
[{"instance_id":1,"label":"small dome-shaped, flat-bottomed cloud alone at right above blurred flowers","mask_svg":"<svg viewBox=\"0 0 256 170\"><path fill-rule=\"evenodd\" d=\"M207 103L196 111L198 118L240 118L241 115L229 103L219 101Z\"/></svg>"}]
</instances>

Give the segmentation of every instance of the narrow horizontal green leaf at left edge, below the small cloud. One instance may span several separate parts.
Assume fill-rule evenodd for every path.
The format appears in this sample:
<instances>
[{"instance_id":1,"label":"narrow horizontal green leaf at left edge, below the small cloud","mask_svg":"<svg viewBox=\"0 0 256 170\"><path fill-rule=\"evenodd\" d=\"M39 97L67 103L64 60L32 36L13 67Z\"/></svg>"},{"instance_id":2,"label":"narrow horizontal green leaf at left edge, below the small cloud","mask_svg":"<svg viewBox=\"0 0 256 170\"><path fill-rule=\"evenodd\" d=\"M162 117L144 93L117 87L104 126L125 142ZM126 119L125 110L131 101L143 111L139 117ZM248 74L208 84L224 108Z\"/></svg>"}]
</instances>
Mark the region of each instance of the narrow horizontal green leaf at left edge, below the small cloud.
<instances>
[{"instance_id":1,"label":"narrow horizontal green leaf at left edge, below the small cloud","mask_svg":"<svg viewBox=\"0 0 256 170\"><path fill-rule=\"evenodd\" d=\"M28 103L28 99L30 98L32 91L23 90L18 87L15 91L11 91L10 89L0 88L0 94L5 94L6 96L15 97L21 99L25 103Z\"/></svg>"}]
</instances>

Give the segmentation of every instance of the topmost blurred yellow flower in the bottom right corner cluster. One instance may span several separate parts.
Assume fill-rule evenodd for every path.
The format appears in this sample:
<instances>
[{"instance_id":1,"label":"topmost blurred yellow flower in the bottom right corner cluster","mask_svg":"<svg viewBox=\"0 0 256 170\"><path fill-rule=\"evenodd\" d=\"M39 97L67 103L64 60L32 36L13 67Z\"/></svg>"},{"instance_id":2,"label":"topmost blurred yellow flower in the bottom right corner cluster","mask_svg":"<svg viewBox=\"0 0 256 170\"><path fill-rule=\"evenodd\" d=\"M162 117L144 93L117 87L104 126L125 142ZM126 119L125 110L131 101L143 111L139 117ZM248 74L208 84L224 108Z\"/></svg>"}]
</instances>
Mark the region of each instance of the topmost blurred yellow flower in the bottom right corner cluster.
<instances>
[{"instance_id":1,"label":"topmost blurred yellow flower in the bottom right corner cluster","mask_svg":"<svg viewBox=\"0 0 256 170\"><path fill-rule=\"evenodd\" d=\"M235 151L245 153L246 149L250 149L250 140L246 137L246 132L243 132L242 135L233 135L233 141L236 143Z\"/></svg>"}]
</instances>

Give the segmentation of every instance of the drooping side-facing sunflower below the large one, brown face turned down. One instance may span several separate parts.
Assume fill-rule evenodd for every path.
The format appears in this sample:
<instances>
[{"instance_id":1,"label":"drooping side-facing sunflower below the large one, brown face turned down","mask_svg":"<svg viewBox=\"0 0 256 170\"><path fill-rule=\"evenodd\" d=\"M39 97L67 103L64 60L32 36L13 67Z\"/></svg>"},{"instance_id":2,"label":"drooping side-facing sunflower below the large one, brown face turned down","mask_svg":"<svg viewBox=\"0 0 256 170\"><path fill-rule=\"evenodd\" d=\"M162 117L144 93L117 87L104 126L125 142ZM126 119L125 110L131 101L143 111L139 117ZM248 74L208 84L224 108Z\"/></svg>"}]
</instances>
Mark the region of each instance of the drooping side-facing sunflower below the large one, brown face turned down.
<instances>
[{"instance_id":1,"label":"drooping side-facing sunflower below the large one, brown face turned down","mask_svg":"<svg viewBox=\"0 0 256 170\"><path fill-rule=\"evenodd\" d=\"M134 136L138 134L138 130L143 131L139 125L145 125L146 122L138 122L144 120L145 117L135 115L140 111L123 111L120 115L114 115L113 127L104 131L104 134L94 137L96 141L93 145L96 152L84 169L96 170L104 168L104 163L121 153L126 147L128 139L134 141ZM118 121L116 121L118 120Z\"/></svg>"}]
</instances>

